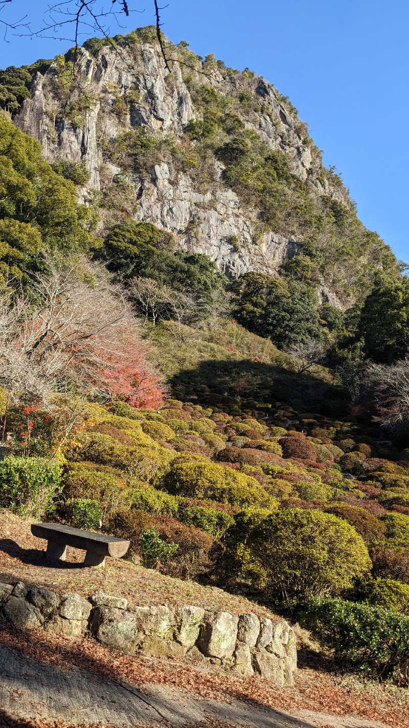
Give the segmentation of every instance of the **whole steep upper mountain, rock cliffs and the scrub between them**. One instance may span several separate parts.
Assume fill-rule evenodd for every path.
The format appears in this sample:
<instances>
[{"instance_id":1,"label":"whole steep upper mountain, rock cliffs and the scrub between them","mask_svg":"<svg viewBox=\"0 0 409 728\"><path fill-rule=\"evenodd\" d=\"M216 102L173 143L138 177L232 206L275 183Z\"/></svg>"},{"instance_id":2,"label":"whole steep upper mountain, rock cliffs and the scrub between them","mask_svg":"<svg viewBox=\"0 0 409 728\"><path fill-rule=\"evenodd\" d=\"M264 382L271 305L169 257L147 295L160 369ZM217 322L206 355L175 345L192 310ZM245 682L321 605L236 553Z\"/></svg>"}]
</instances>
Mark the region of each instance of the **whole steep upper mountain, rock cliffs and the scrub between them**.
<instances>
[{"instance_id":1,"label":"whole steep upper mountain, rock cliffs and the scrub between them","mask_svg":"<svg viewBox=\"0 0 409 728\"><path fill-rule=\"evenodd\" d=\"M150 27L86 41L45 72L34 64L15 123L66 175L84 162L81 198L100 207L102 234L122 218L153 222L230 277L295 258L291 273L322 300L353 304L396 260L296 109L248 69L167 42L172 74Z\"/></svg>"}]
</instances>

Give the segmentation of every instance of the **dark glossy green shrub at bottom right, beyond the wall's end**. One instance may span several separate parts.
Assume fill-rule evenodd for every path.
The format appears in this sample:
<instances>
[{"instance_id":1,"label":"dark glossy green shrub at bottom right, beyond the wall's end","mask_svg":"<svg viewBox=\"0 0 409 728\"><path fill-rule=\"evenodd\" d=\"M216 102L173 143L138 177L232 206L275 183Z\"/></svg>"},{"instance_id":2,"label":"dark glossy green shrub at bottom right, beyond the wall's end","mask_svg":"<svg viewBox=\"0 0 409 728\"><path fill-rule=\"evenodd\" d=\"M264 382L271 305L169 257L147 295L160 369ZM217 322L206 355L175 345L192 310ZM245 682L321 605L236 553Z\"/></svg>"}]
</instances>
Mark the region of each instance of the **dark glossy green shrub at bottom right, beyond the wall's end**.
<instances>
[{"instance_id":1,"label":"dark glossy green shrub at bottom right, beyond the wall's end","mask_svg":"<svg viewBox=\"0 0 409 728\"><path fill-rule=\"evenodd\" d=\"M336 665L409 684L409 618L341 599L307 602L301 624L335 650Z\"/></svg>"}]
</instances>

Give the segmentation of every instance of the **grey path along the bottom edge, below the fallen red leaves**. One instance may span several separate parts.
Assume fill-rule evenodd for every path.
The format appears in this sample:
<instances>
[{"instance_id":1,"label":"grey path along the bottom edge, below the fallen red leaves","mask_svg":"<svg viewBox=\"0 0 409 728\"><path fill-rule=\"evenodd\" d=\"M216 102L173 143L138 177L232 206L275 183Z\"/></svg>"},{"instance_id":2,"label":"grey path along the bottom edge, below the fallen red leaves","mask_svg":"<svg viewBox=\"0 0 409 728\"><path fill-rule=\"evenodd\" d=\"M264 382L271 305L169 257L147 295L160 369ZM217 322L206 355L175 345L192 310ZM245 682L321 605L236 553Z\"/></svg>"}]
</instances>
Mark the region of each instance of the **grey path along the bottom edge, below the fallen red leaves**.
<instances>
[{"instance_id":1,"label":"grey path along the bottom edge, below the fallen red leaves","mask_svg":"<svg viewBox=\"0 0 409 728\"><path fill-rule=\"evenodd\" d=\"M339 719L305 711L302 716L248 705L239 700L218 703L200 695L153 684L144 691L131 684L106 681L85 670L60 670L0 646L0 724L3 716L62 718L72 724L101 727L182 727L211 719L255 728L387 728L377 721ZM308 715L307 715L308 713Z\"/></svg>"}]
</instances>

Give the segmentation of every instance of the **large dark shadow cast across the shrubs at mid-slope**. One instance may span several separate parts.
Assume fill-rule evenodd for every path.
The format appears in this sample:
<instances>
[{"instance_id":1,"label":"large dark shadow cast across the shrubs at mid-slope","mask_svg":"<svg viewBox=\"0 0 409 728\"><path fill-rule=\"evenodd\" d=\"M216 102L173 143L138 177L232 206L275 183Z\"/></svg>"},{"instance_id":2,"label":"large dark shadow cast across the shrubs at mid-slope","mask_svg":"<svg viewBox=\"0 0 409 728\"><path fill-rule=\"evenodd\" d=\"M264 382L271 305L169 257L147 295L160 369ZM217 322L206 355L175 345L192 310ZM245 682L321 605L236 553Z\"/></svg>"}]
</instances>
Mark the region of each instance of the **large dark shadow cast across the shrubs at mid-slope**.
<instances>
[{"instance_id":1,"label":"large dark shadow cast across the shrubs at mid-slope","mask_svg":"<svg viewBox=\"0 0 409 728\"><path fill-rule=\"evenodd\" d=\"M174 395L203 407L225 411L271 409L290 406L297 414L316 412L325 416L349 416L341 387L312 373L299 374L274 364L251 359L205 360L183 369L171 379Z\"/></svg>"}]
</instances>

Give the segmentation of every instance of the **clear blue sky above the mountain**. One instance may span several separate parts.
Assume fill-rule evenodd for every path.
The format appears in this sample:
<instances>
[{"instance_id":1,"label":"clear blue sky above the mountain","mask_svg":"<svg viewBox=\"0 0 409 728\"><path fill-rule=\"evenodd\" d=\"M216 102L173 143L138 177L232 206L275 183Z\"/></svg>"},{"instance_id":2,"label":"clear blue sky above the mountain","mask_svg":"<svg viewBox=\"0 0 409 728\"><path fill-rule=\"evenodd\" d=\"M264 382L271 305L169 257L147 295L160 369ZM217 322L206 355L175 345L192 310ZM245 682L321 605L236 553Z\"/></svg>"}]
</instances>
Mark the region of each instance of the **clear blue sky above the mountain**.
<instances>
[{"instance_id":1,"label":"clear blue sky above the mountain","mask_svg":"<svg viewBox=\"0 0 409 728\"><path fill-rule=\"evenodd\" d=\"M153 23L153 0L131 5L144 12L131 15L123 28L111 25L112 34ZM12 0L0 17L28 12L36 25L41 16L32 17L33 7ZM325 165L341 173L363 223L409 261L407 2L170 0L162 20L174 42L184 39L198 55L214 53L233 68L248 66L288 95L323 149ZM50 58L72 45L8 38L0 46L2 68Z\"/></svg>"}]
</instances>

